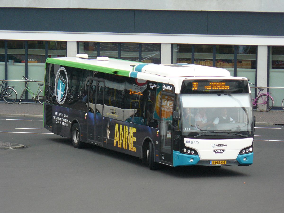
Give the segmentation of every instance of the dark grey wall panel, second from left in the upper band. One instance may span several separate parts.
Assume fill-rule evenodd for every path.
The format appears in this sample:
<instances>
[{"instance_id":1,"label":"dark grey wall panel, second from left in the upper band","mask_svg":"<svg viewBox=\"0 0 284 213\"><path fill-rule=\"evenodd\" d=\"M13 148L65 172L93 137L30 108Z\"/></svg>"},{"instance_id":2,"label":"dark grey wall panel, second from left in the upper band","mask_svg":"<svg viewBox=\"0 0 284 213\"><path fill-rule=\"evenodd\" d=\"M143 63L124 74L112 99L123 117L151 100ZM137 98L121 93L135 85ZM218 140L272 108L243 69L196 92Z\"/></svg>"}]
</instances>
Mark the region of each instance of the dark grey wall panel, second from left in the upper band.
<instances>
[{"instance_id":1,"label":"dark grey wall panel, second from left in the upper band","mask_svg":"<svg viewBox=\"0 0 284 213\"><path fill-rule=\"evenodd\" d=\"M133 10L63 9L66 32L134 32Z\"/></svg>"}]
</instances>

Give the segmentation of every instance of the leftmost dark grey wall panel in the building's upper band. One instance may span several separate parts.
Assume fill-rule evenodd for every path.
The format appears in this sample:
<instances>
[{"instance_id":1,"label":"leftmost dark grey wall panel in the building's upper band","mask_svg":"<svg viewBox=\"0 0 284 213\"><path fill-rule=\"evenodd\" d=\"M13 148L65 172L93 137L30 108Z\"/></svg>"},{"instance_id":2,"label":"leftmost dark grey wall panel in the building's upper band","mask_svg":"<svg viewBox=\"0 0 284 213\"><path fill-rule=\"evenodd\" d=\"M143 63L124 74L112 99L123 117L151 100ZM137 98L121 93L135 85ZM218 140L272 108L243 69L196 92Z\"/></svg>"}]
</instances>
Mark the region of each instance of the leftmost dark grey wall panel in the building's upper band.
<instances>
[{"instance_id":1,"label":"leftmost dark grey wall panel in the building's upper band","mask_svg":"<svg viewBox=\"0 0 284 213\"><path fill-rule=\"evenodd\" d=\"M0 8L0 30L62 31L62 9Z\"/></svg>"}]
</instances>

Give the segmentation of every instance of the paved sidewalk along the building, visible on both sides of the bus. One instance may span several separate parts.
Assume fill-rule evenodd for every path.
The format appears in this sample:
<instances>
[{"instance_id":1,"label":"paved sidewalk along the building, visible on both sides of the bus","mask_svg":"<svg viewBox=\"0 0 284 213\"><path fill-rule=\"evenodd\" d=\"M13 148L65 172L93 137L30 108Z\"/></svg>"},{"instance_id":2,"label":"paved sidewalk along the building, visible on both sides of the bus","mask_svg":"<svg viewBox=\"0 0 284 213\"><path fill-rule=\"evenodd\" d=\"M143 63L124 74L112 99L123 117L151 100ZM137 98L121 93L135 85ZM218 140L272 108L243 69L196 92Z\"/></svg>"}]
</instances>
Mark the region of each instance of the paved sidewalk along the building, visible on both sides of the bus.
<instances>
[{"instance_id":1,"label":"paved sidewalk along the building, visible on both sides of the bus","mask_svg":"<svg viewBox=\"0 0 284 213\"><path fill-rule=\"evenodd\" d=\"M34 103L7 104L0 103L0 116L25 116L42 117L43 105ZM269 112L259 112L254 110L256 123L258 124L284 124L284 111L271 110Z\"/></svg>"}]
</instances>

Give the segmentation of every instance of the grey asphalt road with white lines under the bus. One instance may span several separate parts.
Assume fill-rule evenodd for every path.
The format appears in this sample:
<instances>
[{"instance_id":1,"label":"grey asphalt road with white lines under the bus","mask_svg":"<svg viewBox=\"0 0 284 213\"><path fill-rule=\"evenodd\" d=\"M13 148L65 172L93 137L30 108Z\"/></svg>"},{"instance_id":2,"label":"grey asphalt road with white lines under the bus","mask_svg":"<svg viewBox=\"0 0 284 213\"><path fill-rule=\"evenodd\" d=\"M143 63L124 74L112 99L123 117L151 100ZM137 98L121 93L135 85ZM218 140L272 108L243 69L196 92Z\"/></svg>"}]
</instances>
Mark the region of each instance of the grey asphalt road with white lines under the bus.
<instances>
[{"instance_id":1,"label":"grey asphalt road with white lines under the bus","mask_svg":"<svg viewBox=\"0 0 284 213\"><path fill-rule=\"evenodd\" d=\"M26 146L0 149L0 212L239 213L284 209L281 126L258 126L251 166L161 165L151 171L138 158L101 147L75 149L69 139L42 129L41 118L0 119L0 141Z\"/></svg>"}]
</instances>

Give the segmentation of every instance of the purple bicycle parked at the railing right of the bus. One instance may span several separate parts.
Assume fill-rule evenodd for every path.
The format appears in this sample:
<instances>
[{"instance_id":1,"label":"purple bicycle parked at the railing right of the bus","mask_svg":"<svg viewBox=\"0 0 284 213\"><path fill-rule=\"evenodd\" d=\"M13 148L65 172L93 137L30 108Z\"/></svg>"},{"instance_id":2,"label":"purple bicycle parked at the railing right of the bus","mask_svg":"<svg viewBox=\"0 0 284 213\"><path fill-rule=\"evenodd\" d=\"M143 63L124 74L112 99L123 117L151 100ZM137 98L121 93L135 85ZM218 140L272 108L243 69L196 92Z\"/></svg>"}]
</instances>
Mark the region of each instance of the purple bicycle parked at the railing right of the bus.
<instances>
[{"instance_id":1,"label":"purple bicycle parked at the railing right of the bus","mask_svg":"<svg viewBox=\"0 0 284 213\"><path fill-rule=\"evenodd\" d=\"M250 83L254 85L253 83ZM271 110L274 100L272 98L271 93L261 93L260 91L263 91L263 88L258 88L258 94L255 99L252 98L252 105L257 107L261 112L268 112Z\"/></svg>"}]
</instances>

